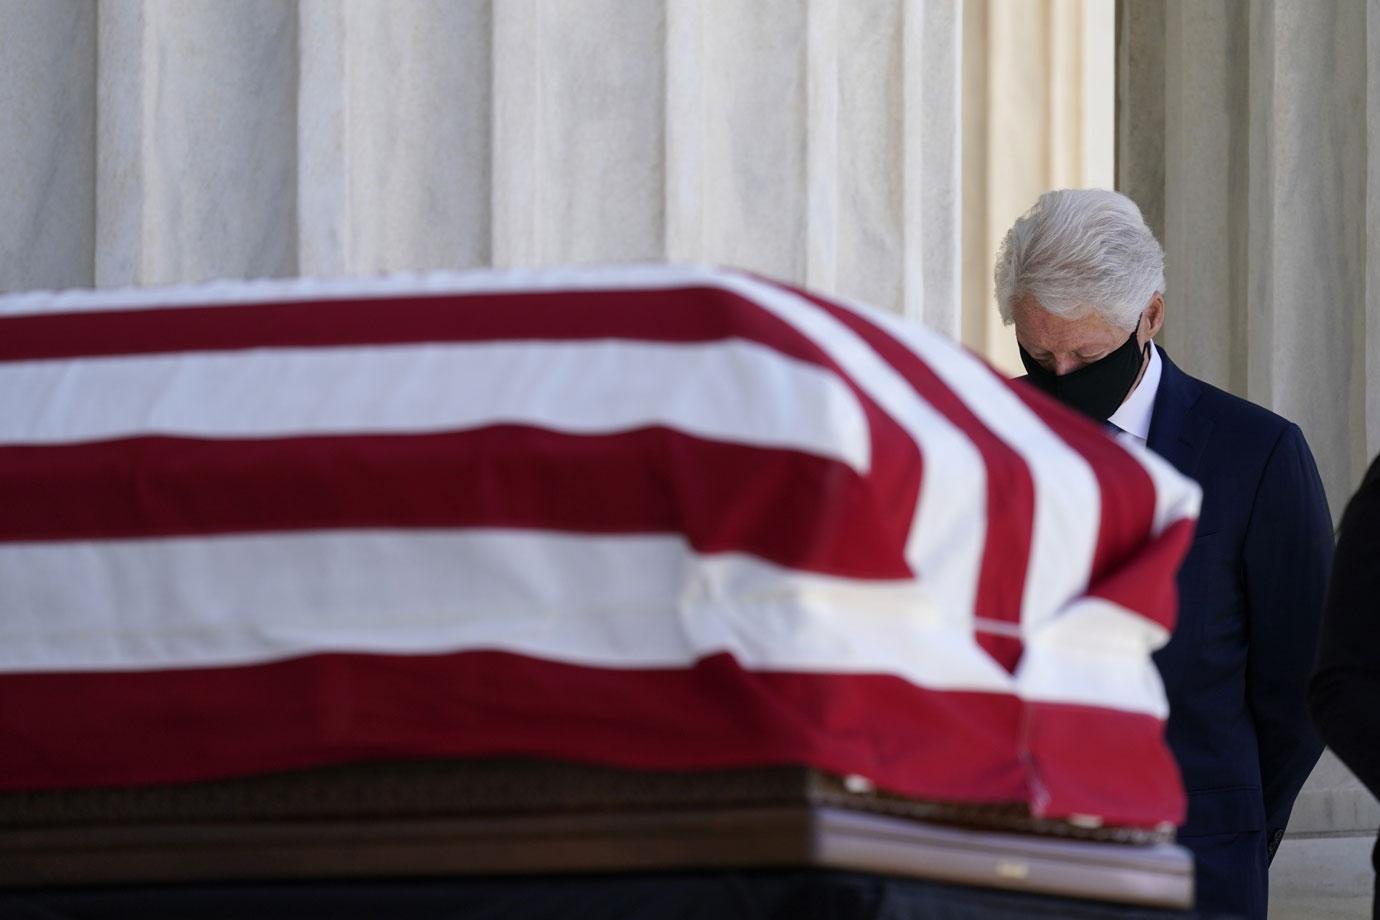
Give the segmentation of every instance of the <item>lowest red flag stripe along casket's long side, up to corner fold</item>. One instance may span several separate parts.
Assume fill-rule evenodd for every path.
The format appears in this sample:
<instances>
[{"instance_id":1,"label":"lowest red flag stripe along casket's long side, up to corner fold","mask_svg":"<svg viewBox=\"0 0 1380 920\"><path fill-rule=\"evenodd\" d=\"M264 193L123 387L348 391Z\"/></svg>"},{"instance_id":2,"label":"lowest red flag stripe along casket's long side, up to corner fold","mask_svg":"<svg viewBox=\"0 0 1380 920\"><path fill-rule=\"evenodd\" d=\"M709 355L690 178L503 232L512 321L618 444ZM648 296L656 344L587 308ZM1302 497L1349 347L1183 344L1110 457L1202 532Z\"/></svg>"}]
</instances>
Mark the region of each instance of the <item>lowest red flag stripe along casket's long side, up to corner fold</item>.
<instances>
[{"instance_id":1,"label":"lowest red flag stripe along casket's long side, up to corner fold","mask_svg":"<svg viewBox=\"0 0 1380 920\"><path fill-rule=\"evenodd\" d=\"M0 788L214 779L379 757L523 754L638 770L810 764L903 794L1024 801L1020 703L729 655L624 670L505 652L0 676Z\"/></svg>"}]
</instances>

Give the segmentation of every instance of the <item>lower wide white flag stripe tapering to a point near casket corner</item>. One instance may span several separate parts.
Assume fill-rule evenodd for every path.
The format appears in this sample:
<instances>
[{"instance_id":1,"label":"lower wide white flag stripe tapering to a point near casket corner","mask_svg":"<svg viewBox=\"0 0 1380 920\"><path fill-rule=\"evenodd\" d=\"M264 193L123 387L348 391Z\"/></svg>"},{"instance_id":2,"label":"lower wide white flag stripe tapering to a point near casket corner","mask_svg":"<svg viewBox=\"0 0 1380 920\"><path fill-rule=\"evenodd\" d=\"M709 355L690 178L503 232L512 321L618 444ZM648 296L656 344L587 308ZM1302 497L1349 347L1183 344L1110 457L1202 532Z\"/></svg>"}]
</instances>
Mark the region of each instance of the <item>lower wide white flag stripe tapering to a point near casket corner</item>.
<instances>
[{"instance_id":1,"label":"lower wide white flag stripe tapering to a point near casket corner","mask_svg":"<svg viewBox=\"0 0 1380 920\"><path fill-rule=\"evenodd\" d=\"M1014 681L915 582L809 575L675 537L330 531L0 545L0 672L505 650L606 668Z\"/></svg>"}]
</instances>

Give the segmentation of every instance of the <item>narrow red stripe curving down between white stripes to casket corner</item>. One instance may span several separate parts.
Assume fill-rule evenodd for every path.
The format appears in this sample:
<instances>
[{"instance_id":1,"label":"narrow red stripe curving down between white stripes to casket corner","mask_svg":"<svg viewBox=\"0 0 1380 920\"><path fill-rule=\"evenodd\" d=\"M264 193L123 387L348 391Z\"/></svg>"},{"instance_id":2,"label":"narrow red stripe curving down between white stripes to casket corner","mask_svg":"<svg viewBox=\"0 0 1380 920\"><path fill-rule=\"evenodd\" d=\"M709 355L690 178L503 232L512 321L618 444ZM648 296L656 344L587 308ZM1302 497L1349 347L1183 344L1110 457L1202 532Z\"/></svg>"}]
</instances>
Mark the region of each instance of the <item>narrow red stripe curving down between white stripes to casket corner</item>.
<instances>
[{"instance_id":1,"label":"narrow red stripe curving down between white stripes to casket corner","mask_svg":"<svg viewBox=\"0 0 1380 920\"><path fill-rule=\"evenodd\" d=\"M987 537L974 612L983 619L1020 626L1031 530L1035 521L1035 483L1025 461L994 434L958 393L907 345L853 310L807 291L788 290L817 303L845 323L977 447L987 468ZM923 578L925 572L920 572L920 577ZM978 630L977 643L1007 672L1016 672L1021 657L1018 639Z\"/></svg>"}]
</instances>

